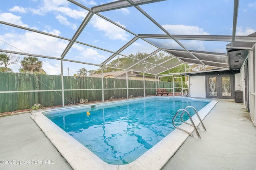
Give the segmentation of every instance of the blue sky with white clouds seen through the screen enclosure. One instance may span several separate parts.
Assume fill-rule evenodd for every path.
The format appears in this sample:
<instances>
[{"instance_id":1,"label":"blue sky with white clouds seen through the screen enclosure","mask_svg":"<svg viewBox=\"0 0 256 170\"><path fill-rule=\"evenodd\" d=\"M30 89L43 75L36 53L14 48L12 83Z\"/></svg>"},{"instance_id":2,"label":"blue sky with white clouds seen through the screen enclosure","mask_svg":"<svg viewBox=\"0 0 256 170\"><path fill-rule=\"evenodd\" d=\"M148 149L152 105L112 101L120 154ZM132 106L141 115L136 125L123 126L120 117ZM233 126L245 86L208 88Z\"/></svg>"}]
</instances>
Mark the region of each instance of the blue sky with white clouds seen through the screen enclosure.
<instances>
[{"instance_id":1,"label":"blue sky with white clouds seen through the screen enclosure","mask_svg":"<svg viewBox=\"0 0 256 170\"><path fill-rule=\"evenodd\" d=\"M76 0L92 8L113 1ZM166 0L139 6L170 34L232 35L233 0ZM0 21L28 27L52 35L72 39L88 14L84 8L67 0L8 0L0 6ZM100 64L134 38L134 34L165 34L134 7L101 12L104 16L130 32L94 14L64 59ZM240 0L236 35L256 32L256 0ZM173 40L147 39L160 48L181 49ZM0 49L60 58L69 41L18 29L0 23ZM180 40L188 50L226 53L230 42ZM99 47L100 49L94 48ZM104 50L102 50L104 49ZM121 52L120 57L137 52L152 53L156 47L138 39ZM14 54L20 57L24 55ZM61 74L60 60L38 58L47 74ZM116 59L116 58L114 58ZM80 68L96 70L99 66L63 61L64 75L74 75ZM9 66L18 72L20 63Z\"/></svg>"}]
</instances>

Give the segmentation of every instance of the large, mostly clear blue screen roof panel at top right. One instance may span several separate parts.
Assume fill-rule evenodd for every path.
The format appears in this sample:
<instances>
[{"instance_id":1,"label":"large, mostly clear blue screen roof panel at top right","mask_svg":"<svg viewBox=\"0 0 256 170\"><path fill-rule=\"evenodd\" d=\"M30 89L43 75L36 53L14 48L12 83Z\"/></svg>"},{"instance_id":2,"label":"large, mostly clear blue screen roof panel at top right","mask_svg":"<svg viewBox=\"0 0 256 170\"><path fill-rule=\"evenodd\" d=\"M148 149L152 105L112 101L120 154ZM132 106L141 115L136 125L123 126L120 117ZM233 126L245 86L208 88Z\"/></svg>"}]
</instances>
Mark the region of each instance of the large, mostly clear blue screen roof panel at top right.
<instances>
[{"instance_id":1,"label":"large, mostly clear blue screen roof panel at top right","mask_svg":"<svg viewBox=\"0 0 256 170\"><path fill-rule=\"evenodd\" d=\"M248 5L248 3L244 4ZM232 35L230 28L233 26L234 1L167 0L154 3L154 10L152 4L146 4L141 8L170 34Z\"/></svg>"}]
</instances>

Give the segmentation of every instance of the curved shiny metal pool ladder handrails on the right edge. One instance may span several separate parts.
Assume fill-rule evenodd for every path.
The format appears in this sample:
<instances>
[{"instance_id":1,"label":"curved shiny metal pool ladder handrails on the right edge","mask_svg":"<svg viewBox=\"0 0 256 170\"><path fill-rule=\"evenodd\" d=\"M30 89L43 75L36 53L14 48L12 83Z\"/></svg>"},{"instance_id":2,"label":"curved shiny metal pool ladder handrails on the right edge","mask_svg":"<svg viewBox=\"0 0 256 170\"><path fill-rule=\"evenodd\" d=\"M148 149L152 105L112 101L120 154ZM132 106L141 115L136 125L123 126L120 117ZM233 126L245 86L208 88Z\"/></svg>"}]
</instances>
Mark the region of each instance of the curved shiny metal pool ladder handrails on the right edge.
<instances>
[{"instance_id":1,"label":"curved shiny metal pool ladder handrails on the right edge","mask_svg":"<svg viewBox=\"0 0 256 170\"><path fill-rule=\"evenodd\" d=\"M201 138L200 135L199 135L199 133L198 133L198 130L197 130L197 129L199 129L199 128L196 127L196 125L194 124L194 121L192 120L192 117L191 117L190 113L189 113L188 110L187 110L188 108L192 108L192 109L195 110L196 115L197 115L197 117L198 117L198 119L199 119L199 121L200 121L202 127L203 127L204 130L206 131L206 129L205 129L205 127L204 127L204 123L202 122L202 120L201 120L201 118L200 118L198 112L196 111L196 108L193 107L193 106L187 106L185 109L179 109L179 110L176 112L176 114L174 115L173 119L172 119L172 124L173 124L174 127L176 127L177 129L180 129L181 131L186 132L186 133L188 133L190 136L194 137L194 135L192 135L192 133L190 133L190 132L188 132L188 131L186 131L186 130L184 130L184 129L181 129L180 127L177 127L177 126L175 125L175 123L174 123L174 119L177 117L178 113L179 113L180 111L183 111L182 114L180 115L180 119L182 120L183 123L186 123L187 125L193 126L194 129L195 129L195 131L196 131L196 134L197 134L198 138ZM188 114L188 117L189 117L189 119L190 119L190 121L191 121L192 124L190 124L190 123L188 123L188 122L185 122L185 121L183 120L182 117L183 117L184 113L187 113L187 114Z\"/></svg>"}]
</instances>

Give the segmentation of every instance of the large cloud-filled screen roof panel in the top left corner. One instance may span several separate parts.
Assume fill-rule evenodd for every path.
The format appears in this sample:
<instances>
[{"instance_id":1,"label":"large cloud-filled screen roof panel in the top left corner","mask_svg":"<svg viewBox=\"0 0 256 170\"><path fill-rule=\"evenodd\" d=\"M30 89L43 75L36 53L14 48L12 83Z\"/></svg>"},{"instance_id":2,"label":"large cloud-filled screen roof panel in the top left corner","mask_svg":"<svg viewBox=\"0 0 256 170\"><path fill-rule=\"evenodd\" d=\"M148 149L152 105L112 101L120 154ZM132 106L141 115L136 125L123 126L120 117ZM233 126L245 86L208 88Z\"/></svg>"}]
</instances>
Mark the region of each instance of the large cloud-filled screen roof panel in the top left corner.
<instances>
[{"instance_id":1,"label":"large cloud-filled screen roof panel in the top left corner","mask_svg":"<svg viewBox=\"0 0 256 170\"><path fill-rule=\"evenodd\" d=\"M71 39L88 13L73 3L62 1L14 1L0 7L0 20Z\"/></svg>"}]
</instances>

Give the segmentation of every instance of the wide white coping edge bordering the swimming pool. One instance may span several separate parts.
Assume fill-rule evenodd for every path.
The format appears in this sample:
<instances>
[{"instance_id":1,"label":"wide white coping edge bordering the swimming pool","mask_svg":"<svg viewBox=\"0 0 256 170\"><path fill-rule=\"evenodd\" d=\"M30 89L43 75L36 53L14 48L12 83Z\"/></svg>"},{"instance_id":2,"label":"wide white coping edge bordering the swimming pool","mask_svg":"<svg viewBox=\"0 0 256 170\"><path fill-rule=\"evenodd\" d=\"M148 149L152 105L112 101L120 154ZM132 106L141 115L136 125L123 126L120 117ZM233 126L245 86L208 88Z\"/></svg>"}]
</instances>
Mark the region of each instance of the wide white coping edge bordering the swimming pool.
<instances>
[{"instance_id":1,"label":"wide white coping edge bordering the swimming pool","mask_svg":"<svg viewBox=\"0 0 256 170\"><path fill-rule=\"evenodd\" d=\"M211 100L208 105L198 111L198 114L202 120L206 117L206 115L208 115L208 113L210 113L217 102L218 101L216 100ZM30 117L35 121L38 127L42 129L46 137L48 137L54 147L56 147L56 149L73 169L161 169L189 137L187 133L175 129L159 143L154 145L150 150L142 154L142 156L140 156L137 160L126 165L111 165L98 158L98 156L76 141L76 139L68 135L68 133L50 121L45 115L42 114L42 112L45 111L46 110L32 113ZM192 119L196 126L200 124L200 121L196 115L192 116ZM185 123L180 125L180 127L186 131L189 131L190 133L194 131L193 127L188 126ZM176 137L177 135L179 136L178 138Z\"/></svg>"}]
</instances>

